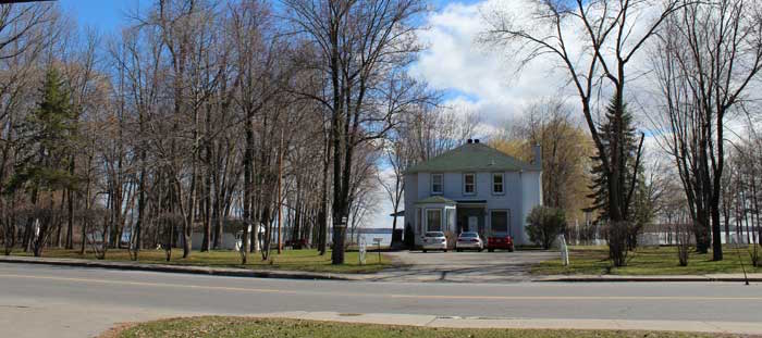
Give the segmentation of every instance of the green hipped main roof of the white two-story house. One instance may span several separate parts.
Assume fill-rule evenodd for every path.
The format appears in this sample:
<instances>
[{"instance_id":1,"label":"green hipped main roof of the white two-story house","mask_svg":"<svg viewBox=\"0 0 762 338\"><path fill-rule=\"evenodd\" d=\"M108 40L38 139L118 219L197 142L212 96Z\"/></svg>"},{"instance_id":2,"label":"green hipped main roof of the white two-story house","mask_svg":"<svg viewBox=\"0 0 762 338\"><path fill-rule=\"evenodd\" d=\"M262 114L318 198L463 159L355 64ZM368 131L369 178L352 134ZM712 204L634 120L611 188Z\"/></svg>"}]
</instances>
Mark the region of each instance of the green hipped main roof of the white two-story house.
<instances>
[{"instance_id":1,"label":"green hipped main roof of the white two-story house","mask_svg":"<svg viewBox=\"0 0 762 338\"><path fill-rule=\"evenodd\" d=\"M463 145L429 161L417 163L405 173L494 171L519 172L539 171L539 168L484 143L475 142Z\"/></svg>"}]
</instances>

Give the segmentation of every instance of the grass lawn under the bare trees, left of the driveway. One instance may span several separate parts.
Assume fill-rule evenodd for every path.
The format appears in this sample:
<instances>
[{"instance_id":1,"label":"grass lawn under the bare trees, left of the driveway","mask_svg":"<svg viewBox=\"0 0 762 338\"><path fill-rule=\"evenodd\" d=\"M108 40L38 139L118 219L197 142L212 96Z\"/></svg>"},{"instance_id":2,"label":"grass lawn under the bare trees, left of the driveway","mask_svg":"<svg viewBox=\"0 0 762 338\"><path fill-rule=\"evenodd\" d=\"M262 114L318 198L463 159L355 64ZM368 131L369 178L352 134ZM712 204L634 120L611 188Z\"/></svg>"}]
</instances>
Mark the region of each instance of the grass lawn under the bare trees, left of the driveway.
<instances>
[{"instance_id":1,"label":"grass lawn under the bare trees, left of the driveway","mask_svg":"<svg viewBox=\"0 0 762 338\"><path fill-rule=\"evenodd\" d=\"M32 255L30 252L14 251L13 255ZM213 250L209 252L193 251L187 259L183 259L182 249L172 250L172 260L167 262L167 256L163 250L142 250L138 255L138 263L152 264L176 264L176 265L199 265L199 266L220 266L220 267L248 267L248 268L272 268L272 270L290 270L290 271L307 271L307 272L328 272L328 273L372 273L391 266L389 259L379 255L376 252L368 252L366 255L366 264L359 265L357 252L347 251L345 264L331 264L331 251L325 252L325 255L319 255L317 250L283 250L283 253L278 254L272 251L270 254L271 261L262 261L260 253L249 254L248 263L241 265L241 254L237 251L231 250ZM95 260L95 254L87 252L79 254L78 250L64 249L46 249L42 251L44 258L66 258L66 259L91 259ZM125 249L110 249L106 253L106 261L130 261L130 253Z\"/></svg>"}]
</instances>

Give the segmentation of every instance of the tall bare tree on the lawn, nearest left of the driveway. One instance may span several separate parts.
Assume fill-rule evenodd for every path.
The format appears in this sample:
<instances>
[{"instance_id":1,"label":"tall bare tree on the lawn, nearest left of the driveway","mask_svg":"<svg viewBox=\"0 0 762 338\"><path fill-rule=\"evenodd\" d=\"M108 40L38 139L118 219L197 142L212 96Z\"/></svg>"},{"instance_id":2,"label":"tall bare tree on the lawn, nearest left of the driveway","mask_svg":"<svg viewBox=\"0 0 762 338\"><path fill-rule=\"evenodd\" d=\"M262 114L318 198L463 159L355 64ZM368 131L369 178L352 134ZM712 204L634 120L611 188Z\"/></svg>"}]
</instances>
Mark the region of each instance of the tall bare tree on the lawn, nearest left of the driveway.
<instances>
[{"instance_id":1,"label":"tall bare tree on the lawn, nearest left of the driveway","mask_svg":"<svg viewBox=\"0 0 762 338\"><path fill-rule=\"evenodd\" d=\"M414 21L426 10L418 0L315 2L286 0L294 32L316 47L312 65L325 95L312 96L330 113L333 155L333 264L344 263L354 152L381 138L394 116L420 97L404 67L420 49Z\"/></svg>"}]
</instances>

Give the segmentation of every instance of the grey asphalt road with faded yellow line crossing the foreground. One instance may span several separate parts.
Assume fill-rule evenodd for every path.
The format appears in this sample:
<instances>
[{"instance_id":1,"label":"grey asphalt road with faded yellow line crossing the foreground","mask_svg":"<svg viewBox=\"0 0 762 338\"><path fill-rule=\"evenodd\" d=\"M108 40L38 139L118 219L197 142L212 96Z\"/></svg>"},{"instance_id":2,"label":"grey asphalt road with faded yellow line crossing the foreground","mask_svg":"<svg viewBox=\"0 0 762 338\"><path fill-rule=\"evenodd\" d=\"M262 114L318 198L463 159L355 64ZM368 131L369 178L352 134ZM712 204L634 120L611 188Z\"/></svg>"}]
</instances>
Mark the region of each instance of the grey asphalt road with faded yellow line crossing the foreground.
<instances>
[{"instance_id":1,"label":"grey asphalt road with faded yellow line crossing the foreground","mask_svg":"<svg viewBox=\"0 0 762 338\"><path fill-rule=\"evenodd\" d=\"M84 337L121 322L285 311L759 322L762 285L309 281L0 264L3 337Z\"/></svg>"}]
</instances>

